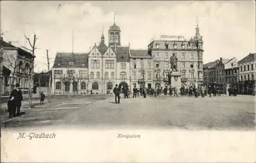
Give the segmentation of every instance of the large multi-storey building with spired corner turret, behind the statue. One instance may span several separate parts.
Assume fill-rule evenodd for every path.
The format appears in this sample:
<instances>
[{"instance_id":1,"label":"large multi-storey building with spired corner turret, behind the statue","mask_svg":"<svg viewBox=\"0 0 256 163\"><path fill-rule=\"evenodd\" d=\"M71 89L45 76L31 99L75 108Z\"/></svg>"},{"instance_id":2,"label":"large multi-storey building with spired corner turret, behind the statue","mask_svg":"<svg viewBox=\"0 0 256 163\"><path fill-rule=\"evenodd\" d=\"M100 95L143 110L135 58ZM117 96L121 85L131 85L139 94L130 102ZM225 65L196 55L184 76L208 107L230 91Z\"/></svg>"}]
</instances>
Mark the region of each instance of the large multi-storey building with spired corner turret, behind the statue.
<instances>
[{"instance_id":1,"label":"large multi-storey building with spired corner turret, behind the statue","mask_svg":"<svg viewBox=\"0 0 256 163\"><path fill-rule=\"evenodd\" d=\"M190 40L153 40L148 45L149 54L153 57L154 87L163 87L168 83L170 57L178 58L178 71L181 72L183 85L197 85L203 82L203 40L197 25L196 35Z\"/></svg>"}]
</instances>

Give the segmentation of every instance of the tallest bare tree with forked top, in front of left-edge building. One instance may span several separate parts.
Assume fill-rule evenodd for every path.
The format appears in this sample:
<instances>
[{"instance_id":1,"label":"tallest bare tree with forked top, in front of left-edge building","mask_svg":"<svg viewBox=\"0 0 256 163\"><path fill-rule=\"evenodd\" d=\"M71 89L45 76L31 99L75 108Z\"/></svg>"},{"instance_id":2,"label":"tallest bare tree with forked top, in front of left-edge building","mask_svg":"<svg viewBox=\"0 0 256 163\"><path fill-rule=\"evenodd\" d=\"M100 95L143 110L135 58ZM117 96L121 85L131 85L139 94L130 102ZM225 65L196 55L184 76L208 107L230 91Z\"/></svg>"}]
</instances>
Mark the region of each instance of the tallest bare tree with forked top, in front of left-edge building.
<instances>
[{"instance_id":1,"label":"tallest bare tree with forked top, in front of left-edge building","mask_svg":"<svg viewBox=\"0 0 256 163\"><path fill-rule=\"evenodd\" d=\"M29 42L30 48L26 48L25 46L21 45L22 48L32 53L31 58L31 64L29 67L29 108L32 107L32 82L33 82L33 76L34 76L34 58L35 58L35 50L37 49L35 46L36 40L38 39L36 37L36 34L34 33L33 39L31 40L29 37L25 35L26 40Z\"/></svg>"}]
</instances>

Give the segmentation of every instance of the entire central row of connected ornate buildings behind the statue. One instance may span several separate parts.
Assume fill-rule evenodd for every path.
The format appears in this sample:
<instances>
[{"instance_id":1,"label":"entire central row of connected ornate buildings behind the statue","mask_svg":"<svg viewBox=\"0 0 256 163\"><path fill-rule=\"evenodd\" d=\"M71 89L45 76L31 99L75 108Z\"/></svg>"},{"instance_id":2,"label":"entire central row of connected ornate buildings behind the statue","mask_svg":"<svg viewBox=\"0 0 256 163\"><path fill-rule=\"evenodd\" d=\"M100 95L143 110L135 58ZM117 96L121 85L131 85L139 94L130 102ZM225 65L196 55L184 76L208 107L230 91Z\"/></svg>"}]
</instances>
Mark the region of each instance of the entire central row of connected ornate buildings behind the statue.
<instances>
[{"instance_id":1,"label":"entire central row of connected ornate buildings behind the statue","mask_svg":"<svg viewBox=\"0 0 256 163\"><path fill-rule=\"evenodd\" d=\"M109 45L102 32L99 45L88 54L57 53L53 65L52 92L55 94L112 94L120 87L163 87L168 83L170 56L178 56L178 69L185 84L203 81L203 41L196 28L189 41L154 40L147 50L131 50L121 45L121 30L109 28ZM167 45L166 45L167 44ZM80 72L84 77L81 79ZM58 78L57 78L58 77ZM57 83L58 82L58 83Z\"/></svg>"}]
</instances>

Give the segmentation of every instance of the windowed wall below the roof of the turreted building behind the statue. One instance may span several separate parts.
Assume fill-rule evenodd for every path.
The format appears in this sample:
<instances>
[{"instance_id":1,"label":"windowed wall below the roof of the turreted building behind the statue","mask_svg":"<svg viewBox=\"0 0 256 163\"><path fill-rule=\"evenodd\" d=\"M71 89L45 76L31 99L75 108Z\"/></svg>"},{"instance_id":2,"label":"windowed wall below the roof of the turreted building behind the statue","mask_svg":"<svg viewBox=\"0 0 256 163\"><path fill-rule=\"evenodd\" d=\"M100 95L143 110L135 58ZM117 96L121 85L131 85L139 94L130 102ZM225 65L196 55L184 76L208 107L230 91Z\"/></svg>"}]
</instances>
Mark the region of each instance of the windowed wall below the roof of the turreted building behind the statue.
<instances>
[{"instance_id":1,"label":"windowed wall below the roof of the turreted building behind the statue","mask_svg":"<svg viewBox=\"0 0 256 163\"><path fill-rule=\"evenodd\" d=\"M187 41L176 41L177 43L177 49L173 48L174 41L168 42L169 46L168 49L165 49L165 46L163 43L165 41L160 41L159 43L159 49L156 47L156 42L153 42L152 45L152 56L153 56L153 68L154 68L154 80L155 83L159 83L161 86L164 86L167 84L167 78L166 73L170 71L170 57L173 56L174 53L176 53L176 56L178 58L177 66L178 71L183 74L182 83L186 84L198 84L203 82L203 68L202 68L202 56L203 53L200 51L198 52L195 46L189 46ZM184 47L182 48L182 43L184 43ZM157 54L159 54L159 58L157 57ZM168 54L168 55L167 55ZM184 57L183 57L184 54ZM193 54L193 58L190 57L191 54ZM157 68L156 64L160 64L160 67ZM168 63L168 66L165 66L165 63ZM182 67L182 64L185 64L185 67ZM190 63L192 63L194 66L193 68L190 67ZM199 64L199 67L198 67ZM159 72L160 79L156 78L156 73ZM163 75L165 73L165 75ZM190 76L190 73L194 73L194 77ZM154 85L155 86L155 85Z\"/></svg>"}]
</instances>

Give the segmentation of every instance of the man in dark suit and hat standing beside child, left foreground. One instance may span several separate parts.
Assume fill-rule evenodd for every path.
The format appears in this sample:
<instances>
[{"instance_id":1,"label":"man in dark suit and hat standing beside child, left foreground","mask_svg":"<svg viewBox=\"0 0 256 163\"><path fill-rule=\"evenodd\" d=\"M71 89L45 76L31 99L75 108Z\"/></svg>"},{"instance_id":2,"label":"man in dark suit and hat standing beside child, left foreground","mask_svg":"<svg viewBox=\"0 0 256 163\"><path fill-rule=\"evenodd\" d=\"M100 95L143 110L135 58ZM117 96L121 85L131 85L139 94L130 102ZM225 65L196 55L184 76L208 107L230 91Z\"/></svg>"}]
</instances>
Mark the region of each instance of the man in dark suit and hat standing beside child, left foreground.
<instances>
[{"instance_id":1,"label":"man in dark suit and hat standing beside child, left foreground","mask_svg":"<svg viewBox=\"0 0 256 163\"><path fill-rule=\"evenodd\" d=\"M19 89L19 83L15 85L15 88L11 92L10 99L13 101L13 109L12 109L12 116L15 117L20 116L20 106L22 106L22 90ZM17 114L16 114L17 108Z\"/></svg>"}]
</instances>

